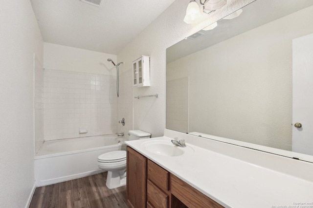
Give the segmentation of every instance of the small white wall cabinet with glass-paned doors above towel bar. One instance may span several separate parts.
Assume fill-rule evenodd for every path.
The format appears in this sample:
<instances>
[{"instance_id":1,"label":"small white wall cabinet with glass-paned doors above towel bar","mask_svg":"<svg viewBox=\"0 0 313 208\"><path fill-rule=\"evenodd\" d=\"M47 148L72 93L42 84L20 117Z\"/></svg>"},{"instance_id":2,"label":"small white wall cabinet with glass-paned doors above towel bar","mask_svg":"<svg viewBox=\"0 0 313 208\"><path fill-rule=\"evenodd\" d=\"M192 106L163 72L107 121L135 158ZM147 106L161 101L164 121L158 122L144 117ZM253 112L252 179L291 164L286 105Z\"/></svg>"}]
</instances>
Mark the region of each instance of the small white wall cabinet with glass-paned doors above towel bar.
<instances>
[{"instance_id":1,"label":"small white wall cabinet with glass-paned doors above towel bar","mask_svg":"<svg viewBox=\"0 0 313 208\"><path fill-rule=\"evenodd\" d=\"M142 56L133 61L133 87L150 86L150 57Z\"/></svg>"}]
</instances>

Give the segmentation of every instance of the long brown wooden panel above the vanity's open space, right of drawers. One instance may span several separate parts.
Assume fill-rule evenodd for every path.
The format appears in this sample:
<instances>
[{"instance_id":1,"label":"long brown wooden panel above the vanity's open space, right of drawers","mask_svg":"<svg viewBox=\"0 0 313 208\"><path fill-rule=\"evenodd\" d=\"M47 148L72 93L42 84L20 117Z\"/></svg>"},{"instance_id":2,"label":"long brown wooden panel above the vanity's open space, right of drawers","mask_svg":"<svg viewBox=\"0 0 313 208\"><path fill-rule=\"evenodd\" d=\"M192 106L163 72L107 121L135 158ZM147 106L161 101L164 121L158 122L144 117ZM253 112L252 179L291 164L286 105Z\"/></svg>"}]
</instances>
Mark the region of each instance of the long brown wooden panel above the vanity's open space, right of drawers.
<instances>
[{"instance_id":1,"label":"long brown wooden panel above the vanity's open space, right of drawers","mask_svg":"<svg viewBox=\"0 0 313 208\"><path fill-rule=\"evenodd\" d=\"M171 174L171 191L188 208L224 208L173 174Z\"/></svg>"}]
</instances>

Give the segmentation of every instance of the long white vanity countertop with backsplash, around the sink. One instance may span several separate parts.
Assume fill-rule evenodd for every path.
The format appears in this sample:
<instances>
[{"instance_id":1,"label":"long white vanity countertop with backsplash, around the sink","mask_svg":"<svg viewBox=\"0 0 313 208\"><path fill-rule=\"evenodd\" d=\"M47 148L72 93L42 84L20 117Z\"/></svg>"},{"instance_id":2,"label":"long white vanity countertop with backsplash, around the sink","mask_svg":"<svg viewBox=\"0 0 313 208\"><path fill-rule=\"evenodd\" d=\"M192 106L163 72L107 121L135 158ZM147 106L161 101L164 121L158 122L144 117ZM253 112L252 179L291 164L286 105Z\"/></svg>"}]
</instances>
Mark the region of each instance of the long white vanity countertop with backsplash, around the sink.
<instances>
[{"instance_id":1,"label":"long white vanity countertop with backsplash, around the sink","mask_svg":"<svg viewBox=\"0 0 313 208\"><path fill-rule=\"evenodd\" d=\"M141 145L152 140L166 141L171 144L173 137L167 135L127 141L126 144L224 207L307 206L307 208L313 208L312 163L230 146L190 134L178 132L178 136L183 136L187 147L194 151L181 156L162 156L147 151ZM217 151L218 148L214 145L220 146L219 148L223 148L223 151ZM231 151L231 153L225 154L225 151ZM242 159L243 152L246 160ZM268 160L268 166L264 165L265 159ZM278 168L271 168L276 167L275 163ZM301 170L289 171L288 169Z\"/></svg>"}]
</instances>

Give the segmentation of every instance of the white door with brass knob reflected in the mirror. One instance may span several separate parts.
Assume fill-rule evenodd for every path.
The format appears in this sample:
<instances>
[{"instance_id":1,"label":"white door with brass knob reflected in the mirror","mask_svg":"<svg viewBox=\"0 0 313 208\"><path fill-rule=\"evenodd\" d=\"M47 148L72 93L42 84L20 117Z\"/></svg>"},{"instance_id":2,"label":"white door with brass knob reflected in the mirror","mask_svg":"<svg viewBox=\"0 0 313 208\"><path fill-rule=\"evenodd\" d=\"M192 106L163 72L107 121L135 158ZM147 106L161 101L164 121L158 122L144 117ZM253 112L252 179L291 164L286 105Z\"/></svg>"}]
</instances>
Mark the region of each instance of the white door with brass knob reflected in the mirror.
<instances>
[{"instance_id":1,"label":"white door with brass knob reflected in the mirror","mask_svg":"<svg viewBox=\"0 0 313 208\"><path fill-rule=\"evenodd\" d=\"M292 40L292 86L292 151L313 155L313 34Z\"/></svg>"}]
</instances>

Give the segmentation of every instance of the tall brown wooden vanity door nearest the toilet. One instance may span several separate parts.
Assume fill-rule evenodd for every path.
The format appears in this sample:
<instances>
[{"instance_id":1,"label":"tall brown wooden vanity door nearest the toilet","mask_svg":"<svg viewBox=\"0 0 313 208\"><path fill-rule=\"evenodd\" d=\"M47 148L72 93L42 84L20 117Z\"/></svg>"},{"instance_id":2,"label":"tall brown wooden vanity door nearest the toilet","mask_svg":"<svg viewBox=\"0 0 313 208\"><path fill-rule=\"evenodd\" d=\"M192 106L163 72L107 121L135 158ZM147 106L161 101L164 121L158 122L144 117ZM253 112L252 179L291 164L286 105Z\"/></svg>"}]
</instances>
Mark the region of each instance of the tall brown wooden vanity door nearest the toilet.
<instances>
[{"instance_id":1,"label":"tall brown wooden vanity door nearest the toilet","mask_svg":"<svg viewBox=\"0 0 313 208\"><path fill-rule=\"evenodd\" d=\"M147 158L127 147L127 201L132 208L146 208Z\"/></svg>"}]
</instances>

